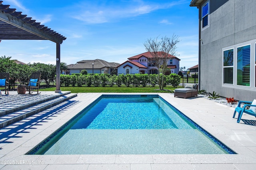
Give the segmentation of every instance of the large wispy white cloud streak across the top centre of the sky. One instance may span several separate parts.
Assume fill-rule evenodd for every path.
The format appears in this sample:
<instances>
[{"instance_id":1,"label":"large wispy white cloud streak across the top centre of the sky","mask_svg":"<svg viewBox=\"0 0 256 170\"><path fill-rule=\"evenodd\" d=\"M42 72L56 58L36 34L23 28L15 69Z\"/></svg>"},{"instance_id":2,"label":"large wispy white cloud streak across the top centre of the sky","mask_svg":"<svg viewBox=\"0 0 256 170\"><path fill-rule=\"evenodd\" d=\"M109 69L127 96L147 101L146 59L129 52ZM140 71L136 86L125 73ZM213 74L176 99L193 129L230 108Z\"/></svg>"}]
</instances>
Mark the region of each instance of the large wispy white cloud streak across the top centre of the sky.
<instances>
[{"instance_id":1,"label":"large wispy white cloud streak across the top centre of the sky","mask_svg":"<svg viewBox=\"0 0 256 170\"><path fill-rule=\"evenodd\" d=\"M187 2L180 0L178 2L155 4L152 2L144 3L143 1L132 1L130 3L126 2L125 4L121 4L119 6L112 4L111 7L107 4L89 4L86 2L77 4L74 8L78 10L75 14L71 14L70 16L90 24L105 23L120 18L130 18L147 14L155 10L171 8L172 6L180 3Z\"/></svg>"}]
</instances>

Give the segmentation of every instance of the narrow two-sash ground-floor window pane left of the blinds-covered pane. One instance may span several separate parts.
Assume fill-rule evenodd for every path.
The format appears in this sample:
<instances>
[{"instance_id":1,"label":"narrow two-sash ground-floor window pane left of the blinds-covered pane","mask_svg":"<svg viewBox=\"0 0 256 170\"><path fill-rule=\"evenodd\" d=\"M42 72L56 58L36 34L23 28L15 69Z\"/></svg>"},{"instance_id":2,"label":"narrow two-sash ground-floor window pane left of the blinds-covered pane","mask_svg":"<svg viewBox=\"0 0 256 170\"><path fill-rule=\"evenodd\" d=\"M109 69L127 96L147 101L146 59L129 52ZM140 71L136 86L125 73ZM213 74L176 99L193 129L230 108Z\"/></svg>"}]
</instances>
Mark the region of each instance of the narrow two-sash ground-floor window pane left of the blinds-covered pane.
<instances>
[{"instance_id":1,"label":"narrow two-sash ground-floor window pane left of the blinds-covered pane","mask_svg":"<svg viewBox=\"0 0 256 170\"><path fill-rule=\"evenodd\" d=\"M233 84L233 65L234 49L223 51L223 82L224 84Z\"/></svg>"}]
</instances>

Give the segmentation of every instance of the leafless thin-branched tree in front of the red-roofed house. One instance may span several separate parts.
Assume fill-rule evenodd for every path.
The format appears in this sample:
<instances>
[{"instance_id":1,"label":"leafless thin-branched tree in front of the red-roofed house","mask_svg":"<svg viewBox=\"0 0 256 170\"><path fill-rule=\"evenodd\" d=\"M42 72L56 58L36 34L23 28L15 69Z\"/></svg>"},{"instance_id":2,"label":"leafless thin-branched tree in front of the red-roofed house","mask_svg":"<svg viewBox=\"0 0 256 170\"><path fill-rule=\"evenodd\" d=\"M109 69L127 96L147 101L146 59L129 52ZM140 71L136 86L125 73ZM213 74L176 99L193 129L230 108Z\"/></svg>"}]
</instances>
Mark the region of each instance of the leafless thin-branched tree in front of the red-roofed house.
<instances>
[{"instance_id":1,"label":"leafless thin-branched tree in front of the red-roofed house","mask_svg":"<svg viewBox=\"0 0 256 170\"><path fill-rule=\"evenodd\" d=\"M156 39L150 38L144 43L146 50L153 57L153 64L158 68L158 84L160 90L164 90L164 73L167 70L168 61L176 55L176 44L179 42L178 36L172 35L172 37L162 37L160 41L158 41L158 37ZM160 79L161 72L162 81Z\"/></svg>"}]
</instances>

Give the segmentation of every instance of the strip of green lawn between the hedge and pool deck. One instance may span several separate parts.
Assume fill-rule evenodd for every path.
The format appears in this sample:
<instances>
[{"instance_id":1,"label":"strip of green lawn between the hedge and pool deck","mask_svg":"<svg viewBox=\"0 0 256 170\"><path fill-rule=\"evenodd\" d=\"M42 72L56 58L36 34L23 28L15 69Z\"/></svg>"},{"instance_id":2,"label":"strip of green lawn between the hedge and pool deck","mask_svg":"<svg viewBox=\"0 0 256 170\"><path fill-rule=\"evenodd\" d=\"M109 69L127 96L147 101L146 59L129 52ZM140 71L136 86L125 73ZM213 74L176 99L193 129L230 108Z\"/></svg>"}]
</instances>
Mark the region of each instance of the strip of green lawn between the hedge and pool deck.
<instances>
[{"instance_id":1,"label":"strip of green lawn between the hedge and pool deck","mask_svg":"<svg viewBox=\"0 0 256 170\"><path fill-rule=\"evenodd\" d=\"M71 93L172 93L175 88L158 87L60 87L61 91L71 91ZM56 88L45 88L40 91L54 91Z\"/></svg>"}]
</instances>

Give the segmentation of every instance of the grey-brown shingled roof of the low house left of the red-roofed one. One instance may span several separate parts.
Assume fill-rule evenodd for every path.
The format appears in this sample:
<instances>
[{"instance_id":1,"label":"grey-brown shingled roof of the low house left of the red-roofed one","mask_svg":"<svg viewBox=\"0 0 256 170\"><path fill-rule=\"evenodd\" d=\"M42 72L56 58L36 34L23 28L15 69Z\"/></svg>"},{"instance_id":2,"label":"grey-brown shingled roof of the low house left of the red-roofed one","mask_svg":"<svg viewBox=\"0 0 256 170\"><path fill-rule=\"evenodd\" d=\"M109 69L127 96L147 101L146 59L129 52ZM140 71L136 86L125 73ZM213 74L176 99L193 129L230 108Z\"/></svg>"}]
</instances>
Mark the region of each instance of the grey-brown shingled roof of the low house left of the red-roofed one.
<instances>
[{"instance_id":1,"label":"grey-brown shingled roof of the low house left of the red-roofed one","mask_svg":"<svg viewBox=\"0 0 256 170\"><path fill-rule=\"evenodd\" d=\"M76 64L68 66L68 69L86 69L86 68L92 68L92 63L93 68L103 68L103 67L112 67L112 68L117 68L119 63L109 63L104 60L100 59L95 59L95 60L82 60L78 61Z\"/></svg>"}]
</instances>

